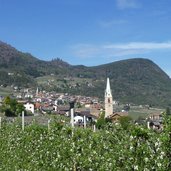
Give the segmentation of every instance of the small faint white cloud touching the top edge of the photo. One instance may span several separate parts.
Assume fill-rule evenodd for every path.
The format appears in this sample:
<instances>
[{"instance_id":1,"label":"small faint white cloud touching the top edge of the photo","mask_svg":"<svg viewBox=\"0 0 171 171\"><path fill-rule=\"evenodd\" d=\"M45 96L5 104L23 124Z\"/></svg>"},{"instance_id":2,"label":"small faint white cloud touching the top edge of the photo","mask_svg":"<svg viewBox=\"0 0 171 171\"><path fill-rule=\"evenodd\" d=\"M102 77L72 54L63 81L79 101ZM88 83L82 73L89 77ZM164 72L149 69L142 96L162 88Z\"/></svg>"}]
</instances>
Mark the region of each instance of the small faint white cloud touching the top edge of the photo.
<instances>
[{"instance_id":1,"label":"small faint white cloud touching the top edge of the photo","mask_svg":"<svg viewBox=\"0 0 171 171\"><path fill-rule=\"evenodd\" d=\"M139 8L140 4L137 0L116 0L116 5L119 9Z\"/></svg>"}]
</instances>

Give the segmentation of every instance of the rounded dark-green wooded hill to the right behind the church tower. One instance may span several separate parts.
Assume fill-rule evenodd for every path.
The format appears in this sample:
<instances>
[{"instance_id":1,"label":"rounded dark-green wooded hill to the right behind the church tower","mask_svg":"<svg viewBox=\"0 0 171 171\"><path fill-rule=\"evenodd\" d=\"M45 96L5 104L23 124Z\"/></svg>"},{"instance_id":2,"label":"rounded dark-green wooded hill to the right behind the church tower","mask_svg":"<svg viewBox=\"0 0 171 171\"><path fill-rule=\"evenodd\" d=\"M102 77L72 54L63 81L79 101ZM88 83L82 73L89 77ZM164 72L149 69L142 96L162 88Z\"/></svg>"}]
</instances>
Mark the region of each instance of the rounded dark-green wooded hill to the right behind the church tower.
<instances>
[{"instance_id":1,"label":"rounded dark-green wooded hill to the right behind the church tower","mask_svg":"<svg viewBox=\"0 0 171 171\"><path fill-rule=\"evenodd\" d=\"M127 103L171 105L171 79L148 59L123 60L93 70L97 71L97 77L105 76L107 71L115 99Z\"/></svg>"}]
</instances>

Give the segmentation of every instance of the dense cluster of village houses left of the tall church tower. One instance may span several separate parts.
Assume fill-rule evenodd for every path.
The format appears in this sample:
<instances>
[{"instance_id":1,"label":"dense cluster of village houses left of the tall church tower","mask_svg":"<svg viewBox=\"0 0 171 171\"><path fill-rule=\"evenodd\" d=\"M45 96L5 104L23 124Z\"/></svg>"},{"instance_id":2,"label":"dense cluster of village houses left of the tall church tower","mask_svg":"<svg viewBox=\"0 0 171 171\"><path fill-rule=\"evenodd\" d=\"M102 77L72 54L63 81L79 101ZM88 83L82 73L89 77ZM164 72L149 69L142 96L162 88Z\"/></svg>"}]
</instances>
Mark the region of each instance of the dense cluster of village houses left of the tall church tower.
<instances>
[{"instance_id":1,"label":"dense cluster of village houses left of the tall church tower","mask_svg":"<svg viewBox=\"0 0 171 171\"><path fill-rule=\"evenodd\" d=\"M97 120L103 103L96 97L72 96L67 93L55 93L24 90L16 94L18 102L33 115L56 114L70 116L71 104L74 101L74 124L83 124L86 117L87 122Z\"/></svg>"}]
</instances>

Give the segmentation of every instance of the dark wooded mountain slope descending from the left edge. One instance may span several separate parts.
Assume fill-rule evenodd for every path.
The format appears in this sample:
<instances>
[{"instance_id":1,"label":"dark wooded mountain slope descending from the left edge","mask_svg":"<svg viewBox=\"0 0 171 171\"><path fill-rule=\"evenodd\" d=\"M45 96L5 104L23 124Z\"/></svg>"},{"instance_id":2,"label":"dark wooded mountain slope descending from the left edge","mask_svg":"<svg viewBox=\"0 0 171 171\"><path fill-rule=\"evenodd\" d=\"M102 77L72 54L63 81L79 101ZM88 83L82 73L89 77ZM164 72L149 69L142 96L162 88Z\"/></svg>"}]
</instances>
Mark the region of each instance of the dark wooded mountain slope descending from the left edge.
<instances>
[{"instance_id":1,"label":"dark wooded mountain slope descending from the left edge","mask_svg":"<svg viewBox=\"0 0 171 171\"><path fill-rule=\"evenodd\" d=\"M34 78L51 73L65 73L69 67L69 64L60 59L42 61L0 41L0 84L34 86Z\"/></svg>"}]
</instances>

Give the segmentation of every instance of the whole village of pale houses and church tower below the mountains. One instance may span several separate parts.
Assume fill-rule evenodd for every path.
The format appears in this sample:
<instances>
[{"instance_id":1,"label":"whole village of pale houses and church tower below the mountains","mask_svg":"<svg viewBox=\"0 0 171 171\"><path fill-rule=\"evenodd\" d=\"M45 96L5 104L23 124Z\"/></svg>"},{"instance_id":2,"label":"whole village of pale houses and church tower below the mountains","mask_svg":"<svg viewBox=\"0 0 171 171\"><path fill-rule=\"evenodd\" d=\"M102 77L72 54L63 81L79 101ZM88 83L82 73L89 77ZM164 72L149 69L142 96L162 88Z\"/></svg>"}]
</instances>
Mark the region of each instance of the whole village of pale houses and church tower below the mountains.
<instances>
[{"instance_id":1,"label":"whole village of pale houses and church tower below the mountains","mask_svg":"<svg viewBox=\"0 0 171 171\"><path fill-rule=\"evenodd\" d=\"M67 122L73 126L86 127L86 124L95 124L102 114L112 123L118 123L121 117L129 116L130 108L134 108L130 104L120 105L118 101L113 100L109 78L107 78L106 82L104 101L100 101L97 97L41 91L38 87L36 90L16 90L13 98L25 107L25 111L27 111L26 116L28 116L26 117L26 123L32 122L33 118L37 117L38 123L46 124L49 118L47 116L53 115L67 118ZM1 105L3 98L1 97L0 99ZM140 108L143 107L140 106ZM133 123L162 130L163 111L149 112L149 107L145 106L145 108L148 109L148 114L139 117L140 119L134 119ZM7 120L11 120L11 117L7 118ZM65 120L62 121L66 122Z\"/></svg>"}]
</instances>

